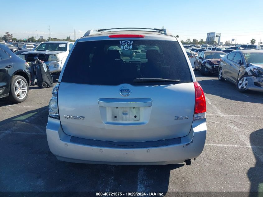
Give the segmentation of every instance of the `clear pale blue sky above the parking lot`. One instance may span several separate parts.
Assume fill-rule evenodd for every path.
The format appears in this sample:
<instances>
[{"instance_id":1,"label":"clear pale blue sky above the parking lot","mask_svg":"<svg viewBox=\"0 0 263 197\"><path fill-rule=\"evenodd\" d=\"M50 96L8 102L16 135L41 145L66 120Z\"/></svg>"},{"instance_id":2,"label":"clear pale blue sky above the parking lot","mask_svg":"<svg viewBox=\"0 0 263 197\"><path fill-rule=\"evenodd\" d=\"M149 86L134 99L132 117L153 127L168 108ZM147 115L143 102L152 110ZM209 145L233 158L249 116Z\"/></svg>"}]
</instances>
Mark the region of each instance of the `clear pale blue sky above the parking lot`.
<instances>
[{"instance_id":1,"label":"clear pale blue sky above the parking lot","mask_svg":"<svg viewBox=\"0 0 263 197\"><path fill-rule=\"evenodd\" d=\"M87 30L115 27L162 28L180 40L221 33L221 42L263 42L262 0L12 0L1 2L0 36L74 39ZM5 16L5 17L3 17ZM232 43L234 43L232 42Z\"/></svg>"}]
</instances>

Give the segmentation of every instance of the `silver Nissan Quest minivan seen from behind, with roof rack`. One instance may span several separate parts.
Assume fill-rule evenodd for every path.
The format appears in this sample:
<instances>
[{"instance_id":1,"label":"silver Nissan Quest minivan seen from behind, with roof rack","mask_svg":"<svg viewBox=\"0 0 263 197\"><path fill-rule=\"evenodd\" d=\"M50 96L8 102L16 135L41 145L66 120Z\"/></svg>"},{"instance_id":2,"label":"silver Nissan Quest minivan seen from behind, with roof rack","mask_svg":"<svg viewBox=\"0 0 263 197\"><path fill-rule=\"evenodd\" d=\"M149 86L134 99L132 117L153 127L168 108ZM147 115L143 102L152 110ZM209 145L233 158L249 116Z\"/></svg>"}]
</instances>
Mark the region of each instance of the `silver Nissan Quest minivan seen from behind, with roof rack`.
<instances>
[{"instance_id":1,"label":"silver Nissan Quest minivan seen from behind, with roof rack","mask_svg":"<svg viewBox=\"0 0 263 197\"><path fill-rule=\"evenodd\" d=\"M190 165L204 148L206 103L180 40L164 29L114 30L73 45L49 101L50 151L67 162ZM116 46L145 58L131 62Z\"/></svg>"}]
</instances>

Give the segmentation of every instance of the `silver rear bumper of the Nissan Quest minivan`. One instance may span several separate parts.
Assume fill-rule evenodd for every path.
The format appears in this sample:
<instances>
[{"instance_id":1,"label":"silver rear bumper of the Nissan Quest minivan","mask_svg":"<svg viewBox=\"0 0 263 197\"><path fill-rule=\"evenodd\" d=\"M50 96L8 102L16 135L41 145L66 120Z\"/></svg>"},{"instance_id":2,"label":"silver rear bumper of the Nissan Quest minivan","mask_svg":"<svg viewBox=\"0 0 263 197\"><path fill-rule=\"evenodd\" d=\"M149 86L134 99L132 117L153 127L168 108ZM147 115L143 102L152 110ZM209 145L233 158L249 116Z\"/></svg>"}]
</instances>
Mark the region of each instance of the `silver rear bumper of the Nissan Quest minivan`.
<instances>
[{"instance_id":1,"label":"silver rear bumper of the Nissan Quest minivan","mask_svg":"<svg viewBox=\"0 0 263 197\"><path fill-rule=\"evenodd\" d=\"M164 165L182 163L201 154L206 138L206 119L195 120L190 133L180 143L143 148L114 148L72 142L60 121L48 118L47 140L57 159L67 162L114 165ZM156 141L158 142L158 141Z\"/></svg>"}]
</instances>

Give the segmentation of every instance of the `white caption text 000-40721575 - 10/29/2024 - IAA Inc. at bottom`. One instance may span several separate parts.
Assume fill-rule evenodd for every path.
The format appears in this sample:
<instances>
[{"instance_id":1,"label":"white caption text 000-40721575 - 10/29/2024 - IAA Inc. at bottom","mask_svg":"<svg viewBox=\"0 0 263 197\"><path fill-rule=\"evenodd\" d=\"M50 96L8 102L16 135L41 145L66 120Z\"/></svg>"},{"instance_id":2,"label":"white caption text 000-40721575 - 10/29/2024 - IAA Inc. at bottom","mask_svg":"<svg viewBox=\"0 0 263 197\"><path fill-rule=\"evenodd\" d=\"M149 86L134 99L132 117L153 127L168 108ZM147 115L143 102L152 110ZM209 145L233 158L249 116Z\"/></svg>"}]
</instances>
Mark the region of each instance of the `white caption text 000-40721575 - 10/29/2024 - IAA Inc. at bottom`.
<instances>
[{"instance_id":1,"label":"white caption text 000-40721575 - 10/29/2024 - IAA Inc. at bottom","mask_svg":"<svg viewBox=\"0 0 263 197\"><path fill-rule=\"evenodd\" d=\"M96 192L96 196L164 196L159 192Z\"/></svg>"}]
</instances>

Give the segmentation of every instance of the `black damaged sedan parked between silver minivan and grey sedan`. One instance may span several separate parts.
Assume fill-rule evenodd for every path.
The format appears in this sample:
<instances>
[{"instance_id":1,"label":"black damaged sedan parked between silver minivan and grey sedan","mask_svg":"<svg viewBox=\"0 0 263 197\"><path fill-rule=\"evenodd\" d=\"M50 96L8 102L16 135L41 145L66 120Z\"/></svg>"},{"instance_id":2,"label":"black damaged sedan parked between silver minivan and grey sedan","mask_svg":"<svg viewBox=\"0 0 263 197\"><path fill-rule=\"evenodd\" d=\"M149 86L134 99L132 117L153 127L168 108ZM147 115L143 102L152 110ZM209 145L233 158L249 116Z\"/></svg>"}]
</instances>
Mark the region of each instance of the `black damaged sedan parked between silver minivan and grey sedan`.
<instances>
[{"instance_id":1,"label":"black damaged sedan parked between silver minivan and grey sedan","mask_svg":"<svg viewBox=\"0 0 263 197\"><path fill-rule=\"evenodd\" d=\"M222 51L202 51L195 59L194 70L200 70L201 75L217 74L220 59L225 55Z\"/></svg>"}]
</instances>

